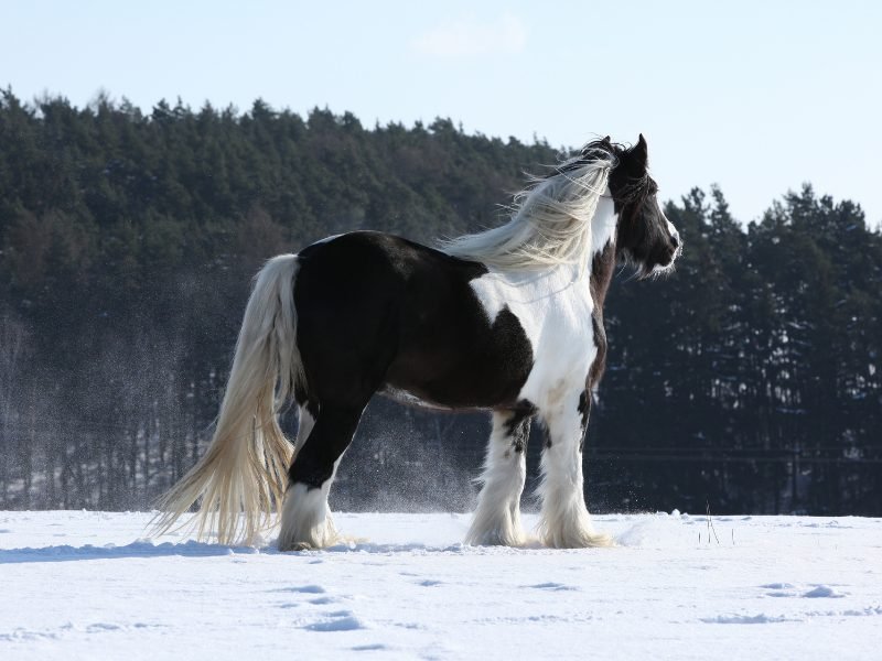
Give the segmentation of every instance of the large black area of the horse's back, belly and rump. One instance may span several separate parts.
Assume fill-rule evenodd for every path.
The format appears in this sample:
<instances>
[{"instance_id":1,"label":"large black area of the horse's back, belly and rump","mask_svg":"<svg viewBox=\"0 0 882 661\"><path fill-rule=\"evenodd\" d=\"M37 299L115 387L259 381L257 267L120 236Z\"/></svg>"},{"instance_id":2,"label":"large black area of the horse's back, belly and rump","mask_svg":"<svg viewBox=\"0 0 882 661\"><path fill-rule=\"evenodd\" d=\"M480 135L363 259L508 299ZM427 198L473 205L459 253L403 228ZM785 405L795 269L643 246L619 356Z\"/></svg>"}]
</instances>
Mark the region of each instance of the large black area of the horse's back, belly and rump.
<instances>
[{"instance_id":1,"label":"large black area of the horse's back, belly and rump","mask_svg":"<svg viewBox=\"0 0 882 661\"><path fill-rule=\"evenodd\" d=\"M299 257L298 345L320 400L388 390L450 408L516 401L531 347L510 311L488 318L471 285L483 264L381 232Z\"/></svg>"}]
</instances>

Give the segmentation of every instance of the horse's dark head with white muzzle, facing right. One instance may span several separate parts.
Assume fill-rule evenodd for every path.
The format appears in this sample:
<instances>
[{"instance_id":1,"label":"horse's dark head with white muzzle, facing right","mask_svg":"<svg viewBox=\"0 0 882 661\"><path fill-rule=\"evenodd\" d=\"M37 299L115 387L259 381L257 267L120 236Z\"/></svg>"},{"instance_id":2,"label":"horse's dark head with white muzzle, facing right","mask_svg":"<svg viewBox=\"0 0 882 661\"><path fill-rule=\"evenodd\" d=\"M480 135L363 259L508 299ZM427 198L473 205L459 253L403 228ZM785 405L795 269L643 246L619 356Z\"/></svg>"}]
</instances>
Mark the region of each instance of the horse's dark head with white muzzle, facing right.
<instances>
[{"instance_id":1,"label":"horse's dark head with white muzzle, facing right","mask_svg":"<svg viewBox=\"0 0 882 661\"><path fill-rule=\"evenodd\" d=\"M658 185L647 171L646 140L624 148L601 141L615 154L617 163L610 173L610 191L615 213L616 257L637 267L641 275L667 271L682 251L680 235L658 205Z\"/></svg>"}]
</instances>

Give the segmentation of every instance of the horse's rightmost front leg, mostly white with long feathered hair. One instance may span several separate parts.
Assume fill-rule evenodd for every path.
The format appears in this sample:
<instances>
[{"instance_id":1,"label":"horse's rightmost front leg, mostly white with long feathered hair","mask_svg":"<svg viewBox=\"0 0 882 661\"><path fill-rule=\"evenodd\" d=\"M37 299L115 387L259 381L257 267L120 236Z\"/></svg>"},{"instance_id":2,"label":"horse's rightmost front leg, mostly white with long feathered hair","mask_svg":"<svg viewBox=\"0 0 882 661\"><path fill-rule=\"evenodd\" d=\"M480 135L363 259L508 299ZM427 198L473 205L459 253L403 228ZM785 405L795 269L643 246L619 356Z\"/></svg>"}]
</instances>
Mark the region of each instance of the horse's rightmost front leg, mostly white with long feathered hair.
<instances>
[{"instance_id":1,"label":"horse's rightmost front leg, mostly white with long feathered hair","mask_svg":"<svg viewBox=\"0 0 882 661\"><path fill-rule=\"evenodd\" d=\"M591 394L573 392L544 412L546 441L542 448L539 496L542 501L539 537L548 546L581 549L609 546L610 535L594 531L584 498L582 442Z\"/></svg>"}]
</instances>

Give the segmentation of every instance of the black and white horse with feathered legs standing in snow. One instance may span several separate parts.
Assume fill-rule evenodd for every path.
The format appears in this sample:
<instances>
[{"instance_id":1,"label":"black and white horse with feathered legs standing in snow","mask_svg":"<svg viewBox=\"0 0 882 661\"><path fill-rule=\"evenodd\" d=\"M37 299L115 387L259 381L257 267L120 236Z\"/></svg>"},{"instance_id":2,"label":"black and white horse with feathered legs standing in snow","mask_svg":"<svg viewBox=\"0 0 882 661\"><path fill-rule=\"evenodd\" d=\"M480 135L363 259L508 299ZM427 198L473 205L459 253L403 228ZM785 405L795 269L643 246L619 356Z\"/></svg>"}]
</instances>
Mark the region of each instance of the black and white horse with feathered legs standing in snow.
<instances>
[{"instance_id":1,"label":"black and white horse with feathered legs standing in snow","mask_svg":"<svg viewBox=\"0 0 882 661\"><path fill-rule=\"evenodd\" d=\"M682 248L657 201L647 144L595 140L515 195L507 223L437 248L377 231L270 259L255 279L206 454L159 502L154 532L201 501L198 537L252 544L281 505L278 548L343 538L327 503L375 393L492 414L465 542L519 546L526 445L544 447L538 540L604 546L584 499L582 449L604 370L603 304L619 263L639 278ZM279 426L299 408L293 443Z\"/></svg>"}]
</instances>

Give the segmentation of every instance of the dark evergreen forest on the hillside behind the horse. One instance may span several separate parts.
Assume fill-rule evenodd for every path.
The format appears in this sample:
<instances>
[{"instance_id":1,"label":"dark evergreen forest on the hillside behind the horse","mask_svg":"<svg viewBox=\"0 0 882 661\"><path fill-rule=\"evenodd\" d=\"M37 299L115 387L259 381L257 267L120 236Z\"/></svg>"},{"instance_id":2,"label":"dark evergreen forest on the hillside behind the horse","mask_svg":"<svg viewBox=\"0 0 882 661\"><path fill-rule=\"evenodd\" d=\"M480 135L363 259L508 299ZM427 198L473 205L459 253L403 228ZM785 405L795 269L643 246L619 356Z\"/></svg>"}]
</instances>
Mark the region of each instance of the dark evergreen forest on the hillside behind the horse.
<instances>
[{"instance_id":1,"label":"dark evergreen forest on the hillside behind the horse","mask_svg":"<svg viewBox=\"0 0 882 661\"><path fill-rule=\"evenodd\" d=\"M1 91L0 507L149 507L209 437L265 259L492 226L561 151L449 119ZM592 507L882 514L880 230L808 185L746 226L718 188L666 213L676 272L624 269L607 302ZM467 508L487 431L377 399L334 505Z\"/></svg>"}]
</instances>

